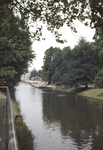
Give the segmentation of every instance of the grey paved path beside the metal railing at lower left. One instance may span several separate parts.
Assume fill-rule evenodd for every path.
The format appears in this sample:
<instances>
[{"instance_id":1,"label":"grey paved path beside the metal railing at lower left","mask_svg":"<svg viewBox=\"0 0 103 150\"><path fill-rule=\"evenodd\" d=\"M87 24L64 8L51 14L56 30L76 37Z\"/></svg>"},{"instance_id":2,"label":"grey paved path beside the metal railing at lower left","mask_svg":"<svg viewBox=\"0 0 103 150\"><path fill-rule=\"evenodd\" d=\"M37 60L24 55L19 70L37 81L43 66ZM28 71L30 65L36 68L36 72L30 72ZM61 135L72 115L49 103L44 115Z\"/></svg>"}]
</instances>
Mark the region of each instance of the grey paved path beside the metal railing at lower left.
<instances>
[{"instance_id":1,"label":"grey paved path beside the metal railing at lower left","mask_svg":"<svg viewBox=\"0 0 103 150\"><path fill-rule=\"evenodd\" d=\"M6 150L6 99L0 99L0 150Z\"/></svg>"}]
</instances>

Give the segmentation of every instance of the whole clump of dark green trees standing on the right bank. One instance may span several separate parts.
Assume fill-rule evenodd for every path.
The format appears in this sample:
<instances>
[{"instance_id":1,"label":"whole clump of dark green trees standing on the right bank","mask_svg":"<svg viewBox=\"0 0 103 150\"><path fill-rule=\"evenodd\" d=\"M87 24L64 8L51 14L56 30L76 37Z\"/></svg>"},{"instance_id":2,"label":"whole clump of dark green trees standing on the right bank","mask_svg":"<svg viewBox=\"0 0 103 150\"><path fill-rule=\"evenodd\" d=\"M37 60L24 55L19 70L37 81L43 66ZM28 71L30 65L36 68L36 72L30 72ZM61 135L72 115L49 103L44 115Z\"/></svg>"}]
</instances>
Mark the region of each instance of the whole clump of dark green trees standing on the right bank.
<instances>
[{"instance_id":1,"label":"whole clump of dark green trees standing on the right bank","mask_svg":"<svg viewBox=\"0 0 103 150\"><path fill-rule=\"evenodd\" d=\"M65 47L63 50L49 48L44 56L45 78L43 79L45 81L50 79L53 83L69 84L71 87L80 84L87 87L89 83L94 82L100 67L98 50L94 47L93 43L81 38L74 49L70 47Z\"/></svg>"}]
</instances>

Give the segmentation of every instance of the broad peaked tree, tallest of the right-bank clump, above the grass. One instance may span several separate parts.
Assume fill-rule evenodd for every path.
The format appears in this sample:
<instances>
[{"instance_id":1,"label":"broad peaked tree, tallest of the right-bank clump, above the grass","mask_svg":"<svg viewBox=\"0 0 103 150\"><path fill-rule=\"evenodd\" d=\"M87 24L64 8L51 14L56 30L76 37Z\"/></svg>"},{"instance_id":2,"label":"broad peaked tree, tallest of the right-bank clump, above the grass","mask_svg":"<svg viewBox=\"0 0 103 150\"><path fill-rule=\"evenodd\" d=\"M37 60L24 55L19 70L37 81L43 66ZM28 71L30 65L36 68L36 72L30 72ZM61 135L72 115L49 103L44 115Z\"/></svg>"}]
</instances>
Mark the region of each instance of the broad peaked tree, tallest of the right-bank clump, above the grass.
<instances>
[{"instance_id":1,"label":"broad peaked tree, tallest of the right-bank clump, above the grass","mask_svg":"<svg viewBox=\"0 0 103 150\"><path fill-rule=\"evenodd\" d=\"M87 84L93 83L94 77L99 70L98 55L92 48L92 44L84 39L80 40L72 52L73 58L70 62L68 83L70 86L82 84L87 87Z\"/></svg>"}]
</instances>

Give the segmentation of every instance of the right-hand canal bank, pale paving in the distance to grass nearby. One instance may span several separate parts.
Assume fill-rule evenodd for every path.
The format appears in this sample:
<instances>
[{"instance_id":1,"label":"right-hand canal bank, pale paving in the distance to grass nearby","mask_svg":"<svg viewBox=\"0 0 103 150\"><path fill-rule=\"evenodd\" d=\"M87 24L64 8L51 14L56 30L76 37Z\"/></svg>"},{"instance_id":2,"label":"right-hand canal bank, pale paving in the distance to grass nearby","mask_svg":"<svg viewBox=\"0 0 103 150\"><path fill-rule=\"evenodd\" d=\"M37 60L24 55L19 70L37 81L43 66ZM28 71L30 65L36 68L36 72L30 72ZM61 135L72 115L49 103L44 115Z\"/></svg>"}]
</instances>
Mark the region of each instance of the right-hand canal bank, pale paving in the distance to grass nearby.
<instances>
[{"instance_id":1,"label":"right-hand canal bank, pale paving in the distance to grass nearby","mask_svg":"<svg viewBox=\"0 0 103 150\"><path fill-rule=\"evenodd\" d=\"M69 86L63 86L63 85L55 85L55 84L50 84L48 85L46 82L42 81L31 81L28 80L26 81L27 83L31 84L31 86L36 87L36 88L50 88L53 90L58 90L62 92L68 92L68 93L74 93L77 95L81 95L84 97L92 98L92 99L98 99L98 100L103 100L103 89L95 88L94 85L88 85L88 88L85 88L85 86L77 87L77 88L70 88Z\"/></svg>"}]
</instances>

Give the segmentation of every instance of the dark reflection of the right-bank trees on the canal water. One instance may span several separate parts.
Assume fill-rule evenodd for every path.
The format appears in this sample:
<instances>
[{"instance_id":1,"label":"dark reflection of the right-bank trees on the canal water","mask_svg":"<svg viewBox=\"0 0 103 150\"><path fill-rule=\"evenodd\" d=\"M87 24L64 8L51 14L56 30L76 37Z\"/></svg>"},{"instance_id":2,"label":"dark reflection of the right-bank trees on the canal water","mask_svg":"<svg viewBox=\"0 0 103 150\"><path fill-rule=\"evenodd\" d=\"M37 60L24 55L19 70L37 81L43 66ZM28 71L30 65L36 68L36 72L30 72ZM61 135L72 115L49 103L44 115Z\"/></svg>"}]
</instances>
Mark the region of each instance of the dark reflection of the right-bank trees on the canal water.
<instances>
[{"instance_id":1,"label":"dark reflection of the right-bank trees on the canal water","mask_svg":"<svg viewBox=\"0 0 103 150\"><path fill-rule=\"evenodd\" d=\"M43 117L49 125L60 122L62 135L75 139L79 148L90 144L92 150L103 149L102 102L71 94L59 97L55 92L43 93Z\"/></svg>"}]
</instances>

